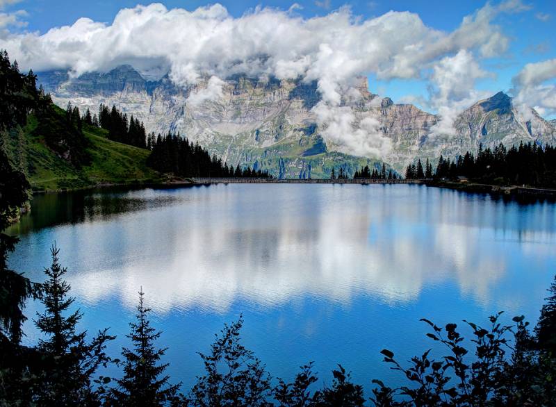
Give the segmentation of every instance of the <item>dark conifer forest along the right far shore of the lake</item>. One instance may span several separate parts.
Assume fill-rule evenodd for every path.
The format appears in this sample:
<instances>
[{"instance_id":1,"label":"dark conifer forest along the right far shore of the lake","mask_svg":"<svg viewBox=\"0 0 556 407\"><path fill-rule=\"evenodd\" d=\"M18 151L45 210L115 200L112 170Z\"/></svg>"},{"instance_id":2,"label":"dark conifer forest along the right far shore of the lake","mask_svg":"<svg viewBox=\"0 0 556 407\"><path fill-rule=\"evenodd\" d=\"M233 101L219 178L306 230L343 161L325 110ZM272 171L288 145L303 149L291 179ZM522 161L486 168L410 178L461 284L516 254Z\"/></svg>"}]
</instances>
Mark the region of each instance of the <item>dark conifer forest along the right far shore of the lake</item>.
<instances>
[{"instance_id":1,"label":"dark conifer forest along the right far shore of the lake","mask_svg":"<svg viewBox=\"0 0 556 407\"><path fill-rule=\"evenodd\" d=\"M536 143L521 143L507 149L499 144L494 149L483 149L477 154L467 151L455 160L440 156L436 171L429 161L410 164L405 172L407 179L456 179L464 176L477 183L492 185L528 185L556 188L556 148Z\"/></svg>"}]
</instances>

